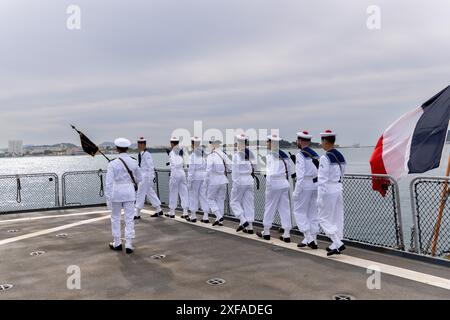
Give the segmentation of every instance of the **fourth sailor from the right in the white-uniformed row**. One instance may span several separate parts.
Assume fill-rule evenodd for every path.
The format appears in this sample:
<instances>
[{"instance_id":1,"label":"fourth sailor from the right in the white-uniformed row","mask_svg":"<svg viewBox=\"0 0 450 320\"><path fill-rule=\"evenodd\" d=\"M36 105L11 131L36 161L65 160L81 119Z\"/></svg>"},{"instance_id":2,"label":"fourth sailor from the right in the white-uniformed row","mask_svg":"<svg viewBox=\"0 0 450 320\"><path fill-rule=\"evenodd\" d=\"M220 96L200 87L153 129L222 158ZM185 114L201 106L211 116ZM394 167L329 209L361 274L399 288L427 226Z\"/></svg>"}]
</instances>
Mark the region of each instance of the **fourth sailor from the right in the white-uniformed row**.
<instances>
[{"instance_id":1,"label":"fourth sailor from the right in the white-uniformed row","mask_svg":"<svg viewBox=\"0 0 450 320\"><path fill-rule=\"evenodd\" d=\"M255 157L248 148L249 140L245 134L236 136L237 150L233 154L230 207L240 224L236 232L253 234L255 219L254 166ZM253 161L253 163L252 163Z\"/></svg>"}]
</instances>

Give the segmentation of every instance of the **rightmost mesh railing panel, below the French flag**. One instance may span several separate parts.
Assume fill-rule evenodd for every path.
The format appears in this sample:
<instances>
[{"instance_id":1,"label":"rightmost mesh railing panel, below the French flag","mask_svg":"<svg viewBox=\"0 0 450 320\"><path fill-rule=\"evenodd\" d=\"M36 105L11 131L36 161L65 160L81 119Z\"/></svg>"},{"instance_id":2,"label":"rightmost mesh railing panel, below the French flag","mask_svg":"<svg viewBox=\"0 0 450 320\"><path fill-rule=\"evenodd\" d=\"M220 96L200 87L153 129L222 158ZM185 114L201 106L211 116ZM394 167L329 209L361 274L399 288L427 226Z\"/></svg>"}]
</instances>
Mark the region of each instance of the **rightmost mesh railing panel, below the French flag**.
<instances>
[{"instance_id":1,"label":"rightmost mesh railing panel, below the French flag","mask_svg":"<svg viewBox=\"0 0 450 320\"><path fill-rule=\"evenodd\" d=\"M413 250L419 254L450 255L449 183L448 177L418 177L411 181Z\"/></svg>"}]
</instances>

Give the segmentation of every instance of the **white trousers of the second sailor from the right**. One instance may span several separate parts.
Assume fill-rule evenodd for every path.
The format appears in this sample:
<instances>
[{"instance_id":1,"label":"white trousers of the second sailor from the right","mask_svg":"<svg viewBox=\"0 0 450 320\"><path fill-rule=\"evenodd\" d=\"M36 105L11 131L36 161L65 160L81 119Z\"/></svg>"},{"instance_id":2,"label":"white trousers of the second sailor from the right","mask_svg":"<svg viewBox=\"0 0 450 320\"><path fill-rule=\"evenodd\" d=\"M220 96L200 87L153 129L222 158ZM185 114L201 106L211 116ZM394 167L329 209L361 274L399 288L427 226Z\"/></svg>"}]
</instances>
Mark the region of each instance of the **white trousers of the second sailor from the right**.
<instances>
[{"instance_id":1,"label":"white trousers of the second sailor from the right","mask_svg":"<svg viewBox=\"0 0 450 320\"><path fill-rule=\"evenodd\" d=\"M298 188L298 190L297 190ZM305 236L305 244L316 241L319 233L319 215L317 213L317 190L303 190L297 187L292 202L297 227Z\"/></svg>"}]
</instances>

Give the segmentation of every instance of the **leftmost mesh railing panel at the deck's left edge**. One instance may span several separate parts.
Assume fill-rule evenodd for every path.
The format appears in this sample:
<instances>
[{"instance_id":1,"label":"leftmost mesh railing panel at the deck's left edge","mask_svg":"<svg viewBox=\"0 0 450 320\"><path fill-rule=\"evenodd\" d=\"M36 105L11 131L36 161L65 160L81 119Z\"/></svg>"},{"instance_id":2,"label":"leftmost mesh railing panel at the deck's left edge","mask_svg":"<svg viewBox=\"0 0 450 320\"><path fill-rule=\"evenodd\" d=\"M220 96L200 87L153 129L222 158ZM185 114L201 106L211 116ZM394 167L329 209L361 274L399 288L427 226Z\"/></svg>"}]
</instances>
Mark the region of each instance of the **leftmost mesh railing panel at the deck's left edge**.
<instances>
[{"instance_id":1,"label":"leftmost mesh railing panel at the deck's left edge","mask_svg":"<svg viewBox=\"0 0 450 320\"><path fill-rule=\"evenodd\" d=\"M0 214L60 206L54 173L0 176L0 190Z\"/></svg>"}]
</instances>

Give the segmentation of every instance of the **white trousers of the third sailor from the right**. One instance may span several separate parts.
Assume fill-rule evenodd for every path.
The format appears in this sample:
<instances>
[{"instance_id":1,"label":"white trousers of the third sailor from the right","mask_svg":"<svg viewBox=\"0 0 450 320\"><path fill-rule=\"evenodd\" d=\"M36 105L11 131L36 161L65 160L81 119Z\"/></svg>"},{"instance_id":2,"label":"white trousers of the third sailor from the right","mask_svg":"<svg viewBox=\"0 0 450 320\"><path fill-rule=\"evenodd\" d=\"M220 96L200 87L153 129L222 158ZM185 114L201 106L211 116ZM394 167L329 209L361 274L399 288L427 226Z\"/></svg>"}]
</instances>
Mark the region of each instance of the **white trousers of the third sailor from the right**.
<instances>
[{"instance_id":1,"label":"white trousers of the third sailor from the right","mask_svg":"<svg viewBox=\"0 0 450 320\"><path fill-rule=\"evenodd\" d=\"M275 219L275 214L277 211L280 214L281 226L284 229L283 236L288 238L292 229L289 188L275 190L266 189L266 203L263 219L265 235L270 234L270 228L272 228L273 220Z\"/></svg>"}]
</instances>

